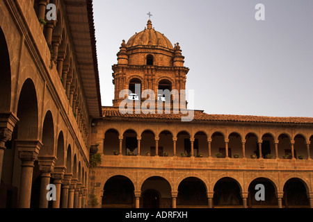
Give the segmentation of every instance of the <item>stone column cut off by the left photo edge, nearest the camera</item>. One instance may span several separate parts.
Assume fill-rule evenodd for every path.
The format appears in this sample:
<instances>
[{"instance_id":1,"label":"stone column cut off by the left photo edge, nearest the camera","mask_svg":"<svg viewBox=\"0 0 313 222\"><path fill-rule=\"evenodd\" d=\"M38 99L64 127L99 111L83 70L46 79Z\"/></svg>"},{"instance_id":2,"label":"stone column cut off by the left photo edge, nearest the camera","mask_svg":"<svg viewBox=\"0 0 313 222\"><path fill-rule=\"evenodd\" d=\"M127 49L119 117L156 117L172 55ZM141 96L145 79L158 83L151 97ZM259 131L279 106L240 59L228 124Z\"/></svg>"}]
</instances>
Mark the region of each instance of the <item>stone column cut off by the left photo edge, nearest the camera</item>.
<instances>
[{"instance_id":1,"label":"stone column cut off by the left photo edge, nearest the camera","mask_svg":"<svg viewBox=\"0 0 313 222\"><path fill-rule=\"evenodd\" d=\"M13 129L19 119L10 113L0 113L0 185L3 167L3 155L6 150L6 142L12 139Z\"/></svg>"}]
</instances>

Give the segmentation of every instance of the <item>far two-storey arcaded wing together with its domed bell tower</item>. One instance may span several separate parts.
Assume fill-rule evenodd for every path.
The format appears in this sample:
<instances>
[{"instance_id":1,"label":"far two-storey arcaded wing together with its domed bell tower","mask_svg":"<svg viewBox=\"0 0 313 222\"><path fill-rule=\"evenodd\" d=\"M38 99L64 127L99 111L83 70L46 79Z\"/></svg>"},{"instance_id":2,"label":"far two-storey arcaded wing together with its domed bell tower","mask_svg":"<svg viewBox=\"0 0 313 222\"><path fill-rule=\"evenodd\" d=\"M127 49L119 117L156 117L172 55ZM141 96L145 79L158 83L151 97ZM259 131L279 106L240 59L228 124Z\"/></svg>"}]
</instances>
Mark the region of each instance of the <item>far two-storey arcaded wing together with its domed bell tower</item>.
<instances>
[{"instance_id":1,"label":"far two-storey arcaded wing together with its domed bell tower","mask_svg":"<svg viewBox=\"0 0 313 222\"><path fill-rule=\"evenodd\" d=\"M102 156L90 180L98 207L313 207L312 118L125 114L119 92L132 78L157 94L162 83L185 89L188 68L179 44L172 48L150 20L117 56L113 107L93 121L90 138Z\"/></svg>"}]
</instances>

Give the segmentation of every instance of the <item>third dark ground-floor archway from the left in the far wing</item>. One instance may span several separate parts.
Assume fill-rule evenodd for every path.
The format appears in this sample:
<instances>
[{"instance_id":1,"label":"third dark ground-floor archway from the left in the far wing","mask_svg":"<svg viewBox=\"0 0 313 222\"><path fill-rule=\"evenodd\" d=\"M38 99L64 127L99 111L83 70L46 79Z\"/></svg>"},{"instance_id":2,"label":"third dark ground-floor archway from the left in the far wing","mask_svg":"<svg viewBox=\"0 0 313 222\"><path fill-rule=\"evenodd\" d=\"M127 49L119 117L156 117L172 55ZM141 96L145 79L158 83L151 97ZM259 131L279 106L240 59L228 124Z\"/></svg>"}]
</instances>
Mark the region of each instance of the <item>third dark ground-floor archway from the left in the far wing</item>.
<instances>
[{"instance_id":1,"label":"third dark ground-floor archway from the left in the far wing","mask_svg":"<svg viewBox=\"0 0 313 222\"><path fill-rule=\"evenodd\" d=\"M207 188L199 178L185 178L177 191L177 208L204 208L208 205Z\"/></svg>"}]
</instances>

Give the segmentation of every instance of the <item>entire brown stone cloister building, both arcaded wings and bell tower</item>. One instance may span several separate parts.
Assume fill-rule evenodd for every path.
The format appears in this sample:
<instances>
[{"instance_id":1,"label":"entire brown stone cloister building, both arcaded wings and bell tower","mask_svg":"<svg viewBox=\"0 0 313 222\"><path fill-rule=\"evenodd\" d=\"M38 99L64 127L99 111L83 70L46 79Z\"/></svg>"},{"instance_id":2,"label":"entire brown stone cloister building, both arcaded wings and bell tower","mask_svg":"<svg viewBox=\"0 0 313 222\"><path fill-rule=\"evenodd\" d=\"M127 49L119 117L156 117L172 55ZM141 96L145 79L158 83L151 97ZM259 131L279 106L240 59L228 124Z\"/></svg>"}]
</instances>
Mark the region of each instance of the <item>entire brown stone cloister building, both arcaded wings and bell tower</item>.
<instances>
[{"instance_id":1,"label":"entire brown stone cloister building, both arcaded wings and bell tower","mask_svg":"<svg viewBox=\"0 0 313 222\"><path fill-rule=\"evenodd\" d=\"M48 3L55 21L44 19ZM0 54L0 207L313 207L313 118L176 106L189 69L150 20L122 41L110 107L91 0L0 0ZM147 107L170 103L170 113L136 112L145 89L157 101ZM166 89L178 93L163 101ZM121 112L125 101L131 112ZM192 121L182 121L186 110Z\"/></svg>"}]
</instances>

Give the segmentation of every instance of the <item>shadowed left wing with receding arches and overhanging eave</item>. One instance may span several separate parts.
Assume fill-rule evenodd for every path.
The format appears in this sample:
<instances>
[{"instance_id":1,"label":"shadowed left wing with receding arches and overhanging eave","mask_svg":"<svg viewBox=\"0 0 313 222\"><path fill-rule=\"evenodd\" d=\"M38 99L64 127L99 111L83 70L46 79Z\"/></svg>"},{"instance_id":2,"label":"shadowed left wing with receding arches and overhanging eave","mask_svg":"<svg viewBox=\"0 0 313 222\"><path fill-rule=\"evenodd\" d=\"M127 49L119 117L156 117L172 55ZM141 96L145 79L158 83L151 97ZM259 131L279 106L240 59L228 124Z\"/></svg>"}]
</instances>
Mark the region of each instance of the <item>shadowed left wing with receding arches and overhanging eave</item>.
<instances>
[{"instance_id":1,"label":"shadowed left wing with receding arches and overhanging eave","mask_svg":"<svg viewBox=\"0 0 313 222\"><path fill-rule=\"evenodd\" d=\"M48 3L56 21L45 20ZM87 206L90 123L102 111L91 1L81 6L0 1L0 207ZM88 39L78 46L81 35ZM49 184L57 189L53 204Z\"/></svg>"}]
</instances>

